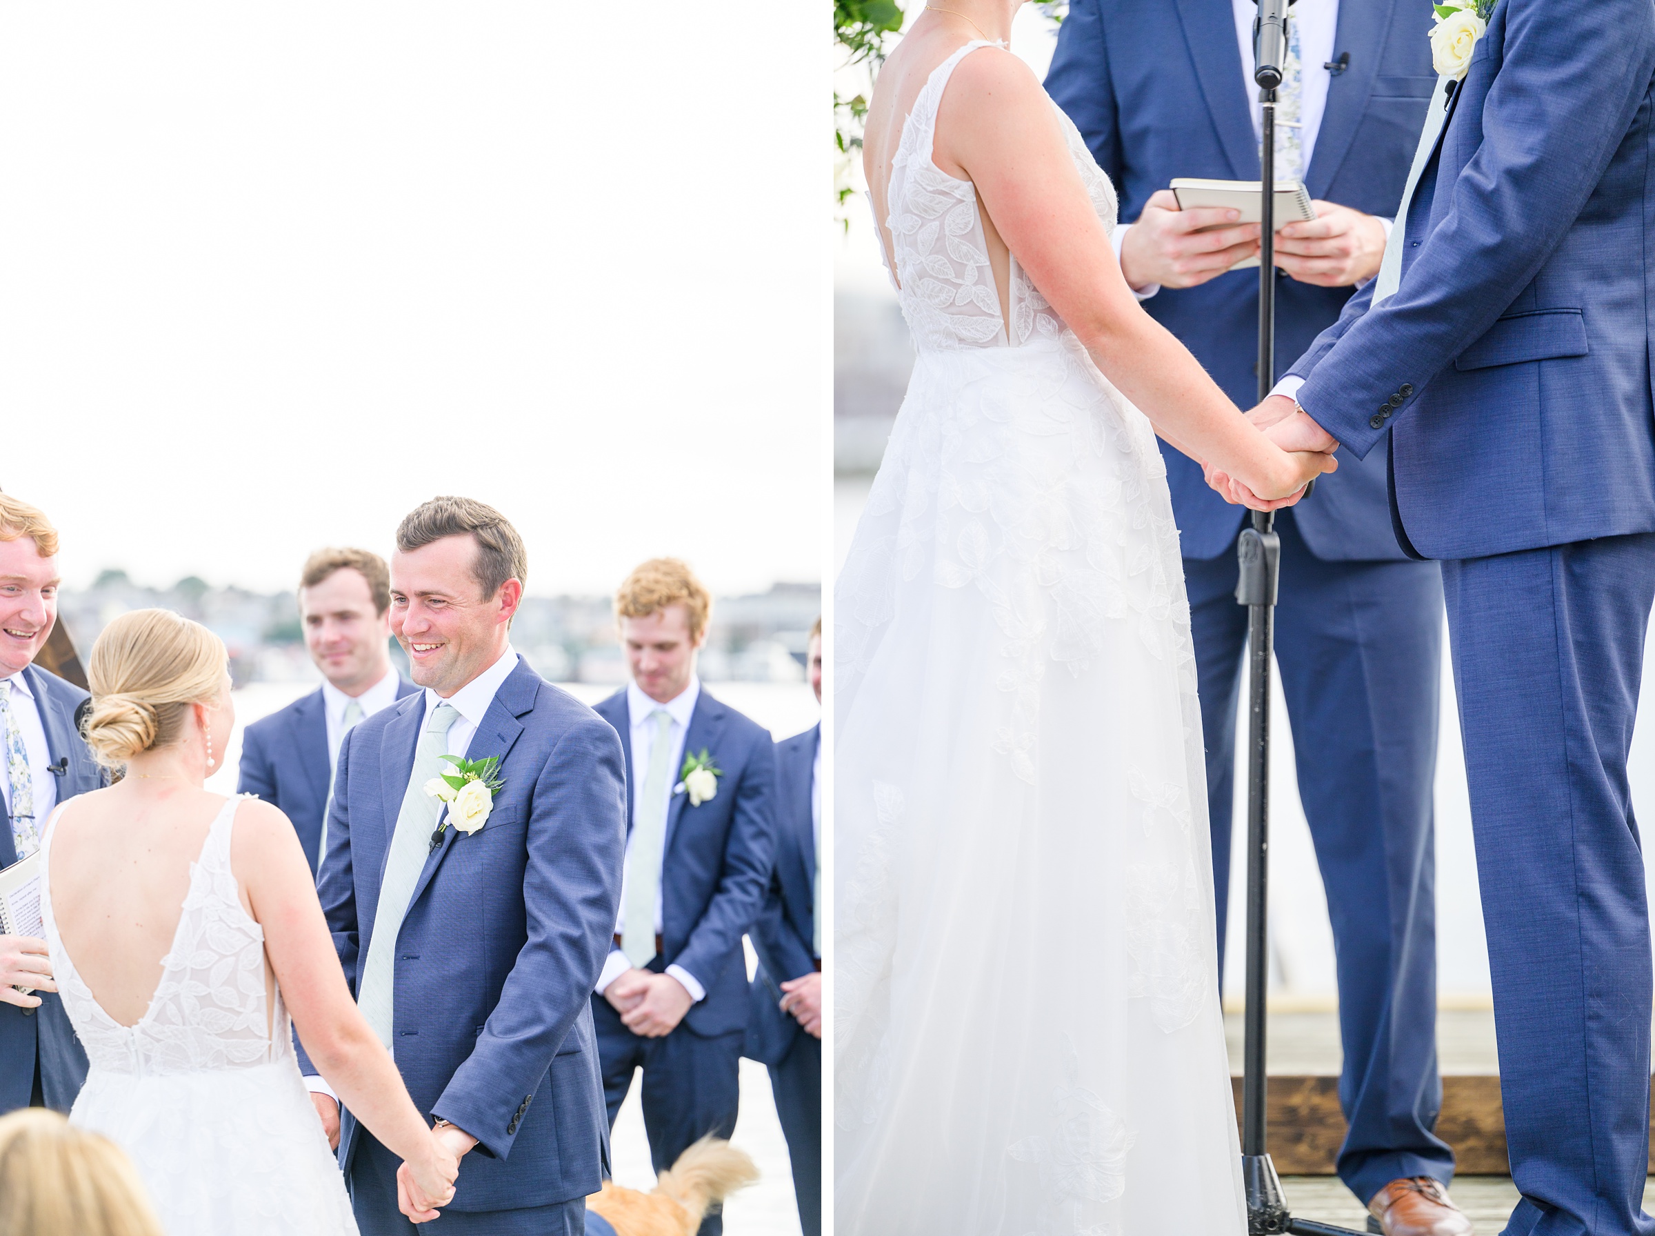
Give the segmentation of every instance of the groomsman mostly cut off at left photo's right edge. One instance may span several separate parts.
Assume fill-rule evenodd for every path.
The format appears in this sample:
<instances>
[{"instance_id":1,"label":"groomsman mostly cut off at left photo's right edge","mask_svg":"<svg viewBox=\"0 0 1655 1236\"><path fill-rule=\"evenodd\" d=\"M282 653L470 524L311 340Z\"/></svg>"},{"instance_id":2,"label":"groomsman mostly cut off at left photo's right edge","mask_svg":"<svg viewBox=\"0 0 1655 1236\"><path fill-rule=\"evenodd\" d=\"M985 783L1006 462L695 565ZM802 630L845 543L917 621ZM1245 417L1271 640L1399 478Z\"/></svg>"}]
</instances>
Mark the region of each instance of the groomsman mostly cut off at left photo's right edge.
<instances>
[{"instance_id":1,"label":"groomsman mostly cut off at left photo's right edge","mask_svg":"<svg viewBox=\"0 0 1655 1236\"><path fill-rule=\"evenodd\" d=\"M806 664L821 703L821 619L811 630ZM746 1023L746 1054L770 1067L803 1236L821 1236L823 1229L821 771L819 721L776 743L776 869L753 925L758 971L748 986Z\"/></svg>"}]
</instances>

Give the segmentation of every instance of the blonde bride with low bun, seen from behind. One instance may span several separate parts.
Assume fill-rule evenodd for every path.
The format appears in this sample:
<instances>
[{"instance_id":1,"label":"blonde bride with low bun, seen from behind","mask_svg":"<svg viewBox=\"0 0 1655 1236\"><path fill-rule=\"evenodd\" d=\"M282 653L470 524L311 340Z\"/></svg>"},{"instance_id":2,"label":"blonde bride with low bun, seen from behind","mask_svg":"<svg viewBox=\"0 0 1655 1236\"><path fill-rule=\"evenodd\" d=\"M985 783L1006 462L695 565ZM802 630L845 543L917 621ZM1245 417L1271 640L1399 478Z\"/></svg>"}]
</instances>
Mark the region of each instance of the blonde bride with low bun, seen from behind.
<instances>
[{"instance_id":1,"label":"blonde bride with low bun, seen from behind","mask_svg":"<svg viewBox=\"0 0 1655 1236\"><path fill-rule=\"evenodd\" d=\"M427 1200L458 1165L346 988L286 816L204 788L233 725L227 660L161 609L93 647L86 741L126 774L58 807L41 846L53 973L91 1061L70 1119L132 1157L169 1236L356 1233L290 1014Z\"/></svg>"}]
</instances>

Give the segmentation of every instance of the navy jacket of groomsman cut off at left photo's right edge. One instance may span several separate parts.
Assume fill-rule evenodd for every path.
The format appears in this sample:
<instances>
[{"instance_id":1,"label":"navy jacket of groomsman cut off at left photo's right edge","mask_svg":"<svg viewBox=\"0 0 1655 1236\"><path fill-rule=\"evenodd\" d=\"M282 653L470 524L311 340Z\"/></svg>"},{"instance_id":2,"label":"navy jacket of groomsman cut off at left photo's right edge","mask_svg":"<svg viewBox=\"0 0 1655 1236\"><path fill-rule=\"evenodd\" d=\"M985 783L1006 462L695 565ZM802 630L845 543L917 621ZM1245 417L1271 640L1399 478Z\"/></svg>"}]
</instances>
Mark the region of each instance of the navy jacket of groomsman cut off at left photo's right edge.
<instances>
[{"instance_id":1,"label":"navy jacket of groomsman cut off at left photo's right edge","mask_svg":"<svg viewBox=\"0 0 1655 1236\"><path fill-rule=\"evenodd\" d=\"M823 741L821 725L776 743L776 865L770 895L750 938L758 973L750 984L746 1054L781 1064L804 1032L781 1011L781 983L816 970L816 826L811 819L811 771Z\"/></svg>"}]
</instances>

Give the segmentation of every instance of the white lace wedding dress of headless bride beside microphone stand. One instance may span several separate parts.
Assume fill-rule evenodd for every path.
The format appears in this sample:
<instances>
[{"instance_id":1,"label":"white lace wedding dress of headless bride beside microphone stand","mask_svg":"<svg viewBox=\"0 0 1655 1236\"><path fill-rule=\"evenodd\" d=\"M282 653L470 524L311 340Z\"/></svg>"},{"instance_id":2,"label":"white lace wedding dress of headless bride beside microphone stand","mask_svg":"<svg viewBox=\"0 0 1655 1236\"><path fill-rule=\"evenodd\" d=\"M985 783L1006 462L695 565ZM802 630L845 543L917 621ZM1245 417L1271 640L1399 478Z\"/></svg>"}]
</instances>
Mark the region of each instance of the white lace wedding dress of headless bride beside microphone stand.
<instances>
[{"instance_id":1,"label":"white lace wedding dress of headless bride beside microphone stand","mask_svg":"<svg viewBox=\"0 0 1655 1236\"><path fill-rule=\"evenodd\" d=\"M1233 1236L1165 467L1015 260L1001 321L975 187L932 162L981 46L895 156L919 361L836 591L837 1231Z\"/></svg>"}]
</instances>

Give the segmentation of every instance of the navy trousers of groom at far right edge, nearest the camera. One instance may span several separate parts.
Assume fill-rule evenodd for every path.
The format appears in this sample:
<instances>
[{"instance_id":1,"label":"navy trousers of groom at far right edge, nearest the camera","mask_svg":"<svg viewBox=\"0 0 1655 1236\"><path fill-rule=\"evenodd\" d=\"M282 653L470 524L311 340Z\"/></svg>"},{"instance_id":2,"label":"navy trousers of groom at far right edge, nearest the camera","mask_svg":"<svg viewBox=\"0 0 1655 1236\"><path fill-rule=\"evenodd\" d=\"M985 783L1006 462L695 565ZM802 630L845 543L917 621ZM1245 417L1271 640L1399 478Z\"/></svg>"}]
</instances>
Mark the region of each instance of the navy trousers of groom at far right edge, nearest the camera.
<instances>
[{"instance_id":1,"label":"navy trousers of groom at far right edge, nearest the camera","mask_svg":"<svg viewBox=\"0 0 1655 1236\"><path fill-rule=\"evenodd\" d=\"M1650 928L1627 751L1655 533L1443 563L1499 1031L1508 1236L1648 1236Z\"/></svg>"}]
</instances>

